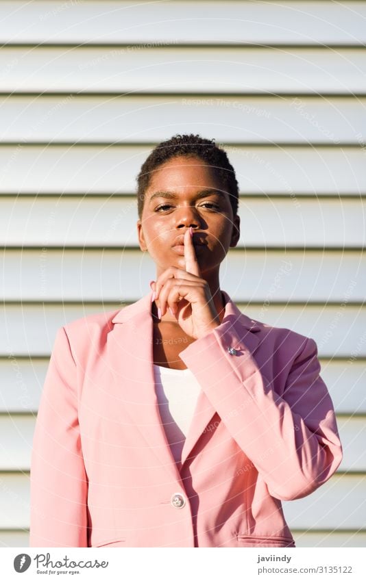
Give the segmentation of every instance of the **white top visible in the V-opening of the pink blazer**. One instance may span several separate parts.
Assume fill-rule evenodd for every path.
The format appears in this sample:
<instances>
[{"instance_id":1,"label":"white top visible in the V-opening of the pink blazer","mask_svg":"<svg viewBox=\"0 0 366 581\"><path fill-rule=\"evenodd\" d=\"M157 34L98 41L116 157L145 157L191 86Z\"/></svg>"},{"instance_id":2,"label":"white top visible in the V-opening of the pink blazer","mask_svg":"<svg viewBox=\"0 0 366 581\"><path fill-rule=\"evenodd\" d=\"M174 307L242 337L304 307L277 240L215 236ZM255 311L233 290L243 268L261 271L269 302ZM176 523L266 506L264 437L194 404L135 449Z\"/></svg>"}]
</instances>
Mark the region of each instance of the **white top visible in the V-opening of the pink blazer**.
<instances>
[{"instance_id":1,"label":"white top visible in the V-opening of the pink blazer","mask_svg":"<svg viewBox=\"0 0 366 581\"><path fill-rule=\"evenodd\" d=\"M162 425L179 463L201 386L188 368L169 369L154 363L154 376Z\"/></svg>"}]
</instances>

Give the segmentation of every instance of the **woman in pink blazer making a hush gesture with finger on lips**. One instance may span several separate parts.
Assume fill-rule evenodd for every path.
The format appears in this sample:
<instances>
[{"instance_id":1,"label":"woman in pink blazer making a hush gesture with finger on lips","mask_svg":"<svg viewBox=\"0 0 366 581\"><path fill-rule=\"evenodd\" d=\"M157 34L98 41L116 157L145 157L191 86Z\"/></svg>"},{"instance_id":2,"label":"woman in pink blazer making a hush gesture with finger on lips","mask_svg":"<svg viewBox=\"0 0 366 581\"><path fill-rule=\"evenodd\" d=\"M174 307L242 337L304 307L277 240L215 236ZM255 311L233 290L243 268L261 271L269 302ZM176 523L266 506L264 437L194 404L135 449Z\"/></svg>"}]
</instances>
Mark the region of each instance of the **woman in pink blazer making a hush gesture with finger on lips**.
<instances>
[{"instance_id":1,"label":"woman in pink blazer making a hush gesture with finger on lips","mask_svg":"<svg viewBox=\"0 0 366 581\"><path fill-rule=\"evenodd\" d=\"M240 235L225 152L158 145L138 176L151 292L60 328L31 467L31 546L293 547L281 500L341 462L312 339L220 290Z\"/></svg>"}]
</instances>

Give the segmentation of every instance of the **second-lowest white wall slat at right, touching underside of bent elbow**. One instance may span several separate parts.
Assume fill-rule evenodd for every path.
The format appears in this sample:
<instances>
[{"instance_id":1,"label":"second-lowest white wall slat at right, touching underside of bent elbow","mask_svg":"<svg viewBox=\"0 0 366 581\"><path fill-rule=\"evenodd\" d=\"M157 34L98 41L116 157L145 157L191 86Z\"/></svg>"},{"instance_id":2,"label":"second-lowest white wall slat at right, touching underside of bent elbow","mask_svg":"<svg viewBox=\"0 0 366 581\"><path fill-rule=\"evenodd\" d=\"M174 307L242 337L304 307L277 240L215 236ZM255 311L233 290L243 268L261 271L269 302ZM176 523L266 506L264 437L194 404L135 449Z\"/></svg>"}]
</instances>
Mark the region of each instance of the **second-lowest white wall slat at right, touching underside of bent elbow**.
<instances>
[{"instance_id":1,"label":"second-lowest white wall slat at right, touching underside of bent elbow","mask_svg":"<svg viewBox=\"0 0 366 581\"><path fill-rule=\"evenodd\" d=\"M364 528L366 475L336 474L315 492L283 502L290 528Z\"/></svg>"}]
</instances>

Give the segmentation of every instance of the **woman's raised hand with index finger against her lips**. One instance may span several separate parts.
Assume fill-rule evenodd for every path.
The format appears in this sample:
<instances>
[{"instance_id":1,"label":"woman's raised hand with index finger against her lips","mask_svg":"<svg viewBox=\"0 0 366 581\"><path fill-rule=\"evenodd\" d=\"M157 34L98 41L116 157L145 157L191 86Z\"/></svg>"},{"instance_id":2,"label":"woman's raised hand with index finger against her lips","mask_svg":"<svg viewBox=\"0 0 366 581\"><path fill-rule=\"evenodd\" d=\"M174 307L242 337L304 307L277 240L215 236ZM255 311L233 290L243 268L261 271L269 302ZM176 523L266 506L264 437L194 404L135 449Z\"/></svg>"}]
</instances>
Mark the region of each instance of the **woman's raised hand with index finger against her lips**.
<instances>
[{"instance_id":1,"label":"woman's raised hand with index finger against her lips","mask_svg":"<svg viewBox=\"0 0 366 581\"><path fill-rule=\"evenodd\" d=\"M186 270L170 266L151 285L161 317L170 307L178 324L189 337L199 339L219 326L220 320L208 282L199 275L191 229L184 234Z\"/></svg>"}]
</instances>

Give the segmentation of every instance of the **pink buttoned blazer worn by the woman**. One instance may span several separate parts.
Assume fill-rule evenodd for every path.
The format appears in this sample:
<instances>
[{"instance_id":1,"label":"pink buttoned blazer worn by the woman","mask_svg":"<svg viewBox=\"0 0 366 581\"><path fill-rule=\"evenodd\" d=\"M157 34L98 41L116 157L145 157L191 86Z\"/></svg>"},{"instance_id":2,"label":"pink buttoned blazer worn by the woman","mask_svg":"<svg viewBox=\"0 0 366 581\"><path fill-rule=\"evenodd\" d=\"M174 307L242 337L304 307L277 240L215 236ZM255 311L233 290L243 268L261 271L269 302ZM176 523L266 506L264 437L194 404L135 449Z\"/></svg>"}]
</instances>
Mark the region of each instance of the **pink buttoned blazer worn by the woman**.
<instances>
[{"instance_id":1,"label":"pink buttoned blazer worn by the woman","mask_svg":"<svg viewBox=\"0 0 366 581\"><path fill-rule=\"evenodd\" d=\"M30 546L293 547L281 500L342 458L313 339L225 318L180 357L202 391L173 460L154 389L151 293L59 329L34 433Z\"/></svg>"}]
</instances>

